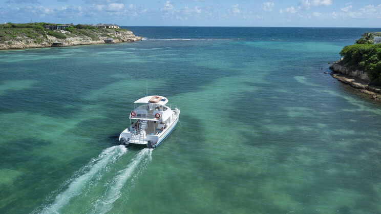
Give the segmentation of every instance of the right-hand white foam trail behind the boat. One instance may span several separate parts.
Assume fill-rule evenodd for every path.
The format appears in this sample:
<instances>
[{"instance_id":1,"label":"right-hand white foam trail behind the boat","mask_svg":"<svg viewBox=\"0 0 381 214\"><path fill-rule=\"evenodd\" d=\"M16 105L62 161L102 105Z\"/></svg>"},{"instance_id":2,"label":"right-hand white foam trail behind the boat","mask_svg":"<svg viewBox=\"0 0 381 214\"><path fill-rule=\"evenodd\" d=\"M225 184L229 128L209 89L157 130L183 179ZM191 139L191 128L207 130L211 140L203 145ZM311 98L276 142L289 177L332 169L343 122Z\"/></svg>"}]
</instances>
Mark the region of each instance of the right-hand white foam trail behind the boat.
<instances>
[{"instance_id":1,"label":"right-hand white foam trail behind the boat","mask_svg":"<svg viewBox=\"0 0 381 214\"><path fill-rule=\"evenodd\" d=\"M105 213L113 207L113 203L121 196L121 188L133 176L139 176L145 169L145 164L152 160L152 150L144 148L137 156L132 159L131 163L124 169L119 171L119 174L113 179L109 191L104 197L96 201L93 211L98 213ZM148 157L147 157L148 156ZM140 164L142 163L142 164ZM138 167L141 166L141 167ZM138 167L138 172L134 173ZM129 187L132 187L131 184Z\"/></svg>"}]
</instances>

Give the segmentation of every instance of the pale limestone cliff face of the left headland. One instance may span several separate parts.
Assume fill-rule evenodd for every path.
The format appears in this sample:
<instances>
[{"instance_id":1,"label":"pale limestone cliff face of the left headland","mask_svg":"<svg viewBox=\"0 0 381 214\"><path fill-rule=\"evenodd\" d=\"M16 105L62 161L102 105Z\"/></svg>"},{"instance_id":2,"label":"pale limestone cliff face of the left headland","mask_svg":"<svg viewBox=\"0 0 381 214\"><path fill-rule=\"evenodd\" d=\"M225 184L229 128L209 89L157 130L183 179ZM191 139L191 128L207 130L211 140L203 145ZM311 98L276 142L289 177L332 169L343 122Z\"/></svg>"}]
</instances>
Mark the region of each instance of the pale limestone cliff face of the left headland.
<instances>
[{"instance_id":1,"label":"pale limestone cliff face of the left headland","mask_svg":"<svg viewBox=\"0 0 381 214\"><path fill-rule=\"evenodd\" d=\"M57 30L59 31L59 30ZM40 36L37 39L28 37L15 37L11 40L0 43L0 49L18 49L18 48L40 48L51 47L53 42L62 42L60 46L75 46L75 45L91 45L91 44L104 44L103 39L112 37L114 43L118 42L131 42L141 40L141 36L135 36L131 31L108 31L108 36L99 34L96 37L89 37L86 35L77 35L69 31L59 31L67 36L65 39L59 39L51 35L46 37Z\"/></svg>"}]
</instances>

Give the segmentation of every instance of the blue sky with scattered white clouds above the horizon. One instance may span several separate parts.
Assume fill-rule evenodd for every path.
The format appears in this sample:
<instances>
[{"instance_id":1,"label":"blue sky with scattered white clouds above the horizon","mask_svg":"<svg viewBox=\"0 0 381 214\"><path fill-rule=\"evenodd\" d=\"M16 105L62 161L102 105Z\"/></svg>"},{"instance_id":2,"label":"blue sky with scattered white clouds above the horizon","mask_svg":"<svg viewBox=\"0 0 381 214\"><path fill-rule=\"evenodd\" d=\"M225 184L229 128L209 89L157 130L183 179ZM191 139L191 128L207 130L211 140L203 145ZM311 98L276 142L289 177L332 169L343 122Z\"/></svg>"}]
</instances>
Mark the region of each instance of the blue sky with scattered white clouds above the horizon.
<instances>
[{"instance_id":1,"label":"blue sky with scattered white clouds above the horizon","mask_svg":"<svg viewBox=\"0 0 381 214\"><path fill-rule=\"evenodd\" d=\"M0 0L0 23L381 27L381 0Z\"/></svg>"}]
</instances>

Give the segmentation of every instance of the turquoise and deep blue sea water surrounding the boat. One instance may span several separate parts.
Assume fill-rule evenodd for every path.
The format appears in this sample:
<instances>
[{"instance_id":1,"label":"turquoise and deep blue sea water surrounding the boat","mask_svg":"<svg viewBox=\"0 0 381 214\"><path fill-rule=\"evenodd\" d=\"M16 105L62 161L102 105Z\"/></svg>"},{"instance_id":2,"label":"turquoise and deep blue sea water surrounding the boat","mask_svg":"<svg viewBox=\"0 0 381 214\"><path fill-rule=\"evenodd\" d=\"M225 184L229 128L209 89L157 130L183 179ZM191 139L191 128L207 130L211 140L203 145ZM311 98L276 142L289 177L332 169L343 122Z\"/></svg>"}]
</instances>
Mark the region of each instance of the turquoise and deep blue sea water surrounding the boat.
<instances>
[{"instance_id":1,"label":"turquoise and deep blue sea water surrounding the boat","mask_svg":"<svg viewBox=\"0 0 381 214\"><path fill-rule=\"evenodd\" d=\"M0 51L1 213L381 210L381 106L324 74L381 29L129 29ZM118 145L146 82L181 109L153 151Z\"/></svg>"}]
</instances>

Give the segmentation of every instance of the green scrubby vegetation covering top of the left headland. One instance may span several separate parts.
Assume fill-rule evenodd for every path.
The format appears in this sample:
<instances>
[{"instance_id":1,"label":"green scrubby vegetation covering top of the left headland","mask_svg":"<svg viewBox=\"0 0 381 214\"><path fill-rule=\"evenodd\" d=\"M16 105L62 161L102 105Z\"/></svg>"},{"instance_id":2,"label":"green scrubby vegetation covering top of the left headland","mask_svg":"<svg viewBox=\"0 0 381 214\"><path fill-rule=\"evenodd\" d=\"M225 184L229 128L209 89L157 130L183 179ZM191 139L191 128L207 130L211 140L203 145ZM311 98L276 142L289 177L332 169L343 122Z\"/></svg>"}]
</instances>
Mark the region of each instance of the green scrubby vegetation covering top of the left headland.
<instances>
[{"instance_id":1,"label":"green scrubby vegetation covering top of the left headland","mask_svg":"<svg viewBox=\"0 0 381 214\"><path fill-rule=\"evenodd\" d=\"M13 24L7 23L0 25L0 43L7 42L8 45L13 41L23 41L25 39L33 39L33 42L40 44L49 36L55 37L57 40L66 39L68 37L90 37L92 40L100 40L100 37L114 38L115 32L129 31L127 29L104 29L93 26L73 25L64 31L51 31L45 29L43 25L53 25L49 23L27 23ZM114 36L113 36L114 35Z\"/></svg>"}]
</instances>

